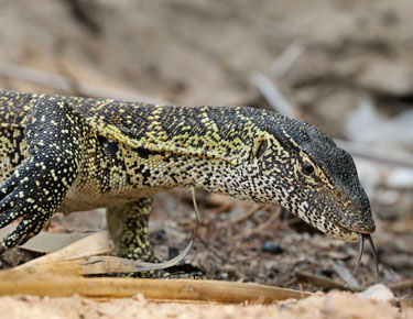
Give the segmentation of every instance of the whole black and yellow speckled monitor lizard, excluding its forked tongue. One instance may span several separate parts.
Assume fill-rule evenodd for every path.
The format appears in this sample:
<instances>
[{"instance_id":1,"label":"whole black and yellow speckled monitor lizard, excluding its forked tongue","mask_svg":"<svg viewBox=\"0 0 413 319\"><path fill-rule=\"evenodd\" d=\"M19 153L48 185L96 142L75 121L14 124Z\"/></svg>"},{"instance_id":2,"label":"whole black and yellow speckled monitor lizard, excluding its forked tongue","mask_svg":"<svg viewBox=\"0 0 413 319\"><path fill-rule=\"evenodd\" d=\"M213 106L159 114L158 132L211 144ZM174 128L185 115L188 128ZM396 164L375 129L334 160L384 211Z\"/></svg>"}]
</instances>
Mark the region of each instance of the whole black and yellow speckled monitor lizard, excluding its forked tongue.
<instances>
[{"instance_id":1,"label":"whole black and yellow speckled monitor lizard, excluding its forked tongue","mask_svg":"<svg viewBox=\"0 0 413 319\"><path fill-rule=\"evenodd\" d=\"M0 228L23 218L2 250L56 211L107 207L118 254L153 261L151 195L192 186L280 202L347 241L374 231L351 156L319 129L271 111L0 91Z\"/></svg>"}]
</instances>

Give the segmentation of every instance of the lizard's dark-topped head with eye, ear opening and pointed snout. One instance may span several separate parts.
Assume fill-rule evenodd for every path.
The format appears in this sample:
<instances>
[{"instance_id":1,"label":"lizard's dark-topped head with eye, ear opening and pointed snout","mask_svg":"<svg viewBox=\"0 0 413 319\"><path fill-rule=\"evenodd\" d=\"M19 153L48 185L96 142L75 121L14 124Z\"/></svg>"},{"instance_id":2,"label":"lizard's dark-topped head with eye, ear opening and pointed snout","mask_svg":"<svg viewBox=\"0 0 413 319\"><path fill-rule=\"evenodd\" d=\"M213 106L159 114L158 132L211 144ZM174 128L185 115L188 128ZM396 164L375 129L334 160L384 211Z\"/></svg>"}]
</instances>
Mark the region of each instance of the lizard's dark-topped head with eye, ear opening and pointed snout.
<instances>
[{"instance_id":1,"label":"lizard's dark-topped head with eye, ear opening and pointed snout","mask_svg":"<svg viewBox=\"0 0 413 319\"><path fill-rule=\"evenodd\" d=\"M359 241L374 231L369 199L346 151L300 120L268 113L261 127L251 151L267 180L261 201L275 195L292 213L337 239Z\"/></svg>"}]
</instances>

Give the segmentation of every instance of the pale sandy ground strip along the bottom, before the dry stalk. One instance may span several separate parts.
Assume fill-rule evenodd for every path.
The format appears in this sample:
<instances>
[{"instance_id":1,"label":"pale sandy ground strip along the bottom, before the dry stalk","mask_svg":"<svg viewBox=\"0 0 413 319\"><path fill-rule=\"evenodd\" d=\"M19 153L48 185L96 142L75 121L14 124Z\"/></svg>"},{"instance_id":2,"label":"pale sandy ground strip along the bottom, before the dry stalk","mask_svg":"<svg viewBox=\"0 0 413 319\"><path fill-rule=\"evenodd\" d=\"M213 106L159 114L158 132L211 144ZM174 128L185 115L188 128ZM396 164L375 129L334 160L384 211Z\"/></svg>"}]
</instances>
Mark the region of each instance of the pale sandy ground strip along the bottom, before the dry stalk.
<instances>
[{"instance_id":1,"label":"pale sandy ground strip along the bottom, before the dry stalk","mask_svg":"<svg viewBox=\"0 0 413 319\"><path fill-rule=\"evenodd\" d=\"M358 318L407 319L413 308L398 309L388 301L361 299L350 293L322 293L297 301L276 305L199 305L153 304L142 296L110 301L94 301L78 296L72 298L39 298L33 296L2 297L0 318Z\"/></svg>"}]
</instances>

